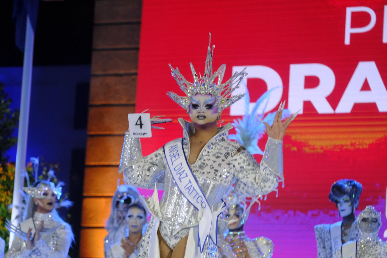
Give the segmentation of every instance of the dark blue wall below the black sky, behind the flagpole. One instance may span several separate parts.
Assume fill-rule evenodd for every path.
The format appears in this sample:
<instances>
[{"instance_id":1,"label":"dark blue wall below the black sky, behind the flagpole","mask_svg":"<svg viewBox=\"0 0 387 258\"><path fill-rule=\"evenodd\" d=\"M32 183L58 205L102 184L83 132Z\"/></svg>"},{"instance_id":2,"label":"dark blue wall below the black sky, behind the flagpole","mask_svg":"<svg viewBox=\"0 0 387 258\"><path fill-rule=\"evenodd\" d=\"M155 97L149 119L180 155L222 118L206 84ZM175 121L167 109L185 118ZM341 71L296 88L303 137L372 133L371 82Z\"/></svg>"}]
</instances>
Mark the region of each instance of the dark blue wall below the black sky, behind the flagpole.
<instances>
[{"instance_id":1,"label":"dark blue wall below the black sky, behind the flagpole","mask_svg":"<svg viewBox=\"0 0 387 258\"><path fill-rule=\"evenodd\" d=\"M21 80L21 67L0 67L0 82L12 97L13 109L20 108ZM87 116L79 113L87 112L87 96L82 92L86 87L87 95L89 80L89 65L33 68L26 162L41 155L45 161L60 163L58 178L66 183L64 192L70 181L72 151L86 148ZM16 145L8 155L15 161Z\"/></svg>"}]
</instances>

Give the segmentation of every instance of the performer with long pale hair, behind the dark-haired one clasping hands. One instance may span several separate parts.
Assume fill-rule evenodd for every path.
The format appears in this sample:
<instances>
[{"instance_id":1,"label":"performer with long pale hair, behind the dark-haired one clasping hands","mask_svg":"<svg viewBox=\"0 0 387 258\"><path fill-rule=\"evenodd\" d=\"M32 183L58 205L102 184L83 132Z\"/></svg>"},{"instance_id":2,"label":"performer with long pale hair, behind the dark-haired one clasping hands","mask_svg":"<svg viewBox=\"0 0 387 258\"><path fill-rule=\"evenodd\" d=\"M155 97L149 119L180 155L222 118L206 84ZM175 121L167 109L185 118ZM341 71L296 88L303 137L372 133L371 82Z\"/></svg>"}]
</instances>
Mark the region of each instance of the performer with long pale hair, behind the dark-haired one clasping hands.
<instances>
[{"instance_id":1,"label":"performer with long pale hair, behind the dark-haired one clasping hands","mask_svg":"<svg viewBox=\"0 0 387 258\"><path fill-rule=\"evenodd\" d=\"M125 230L128 229L125 217L127 216L129 205L137 198L139 198L139 192L136 188L129 185L120 185L115 191L111 200L109 219L106 223L108 234L104 238L105 257L114 244L120 243Z\"/></svg>"}]
</instances>

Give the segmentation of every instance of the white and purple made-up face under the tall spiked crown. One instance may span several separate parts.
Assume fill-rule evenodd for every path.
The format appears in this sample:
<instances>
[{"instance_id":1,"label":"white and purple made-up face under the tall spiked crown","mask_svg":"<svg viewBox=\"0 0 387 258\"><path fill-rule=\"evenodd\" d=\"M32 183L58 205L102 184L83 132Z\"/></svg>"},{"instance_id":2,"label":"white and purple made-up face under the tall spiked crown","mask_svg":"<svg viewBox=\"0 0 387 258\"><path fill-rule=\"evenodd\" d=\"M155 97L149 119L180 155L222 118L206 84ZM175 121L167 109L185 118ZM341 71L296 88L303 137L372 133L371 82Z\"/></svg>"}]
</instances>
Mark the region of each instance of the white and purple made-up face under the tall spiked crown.
<instances>
[{"instance_id":1,"label":"white and purple made-up face under the tall spiked crown","mask_svg":"<svg viewBox=\"0 0 387 258\"><path fill-rule=\"evenodd\" d=\"M215 122L219 116L216 98L211 94L196 94L191 98L189 115L194 124L205 125Z\"/></svg>"}]
</instances>

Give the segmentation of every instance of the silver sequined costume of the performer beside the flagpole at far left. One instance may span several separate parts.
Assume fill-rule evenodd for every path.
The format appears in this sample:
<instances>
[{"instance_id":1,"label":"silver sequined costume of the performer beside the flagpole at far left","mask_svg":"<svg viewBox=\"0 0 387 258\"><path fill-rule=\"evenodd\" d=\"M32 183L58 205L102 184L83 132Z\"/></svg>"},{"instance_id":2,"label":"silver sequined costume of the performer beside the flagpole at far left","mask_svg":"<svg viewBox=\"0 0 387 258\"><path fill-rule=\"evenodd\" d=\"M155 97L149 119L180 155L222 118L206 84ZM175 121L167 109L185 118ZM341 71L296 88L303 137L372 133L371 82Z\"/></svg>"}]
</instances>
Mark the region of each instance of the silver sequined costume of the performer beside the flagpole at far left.
<instances>
[{"instance_id":1,"label":"silver sequined costume of the performer beside the flagpole at far left","mask_svg":"<svg viewBox=\"0 0 387 258\"><path fill-rule=\"evenodd\" d=\"M27 258L27 257L45 257L45 258L66 258L70 244L72 242L72 231L70 225L63 223L56 212L46 214L35 212L33 217L24 220L19 224L19 228L27 232L32 228L32 234L39 227L41 221L44 221L44 229L50 230L50 234L41 232L41 238L37 241L32 250L26 248L23 239L15 236L12 246L5 254L6 258ZM40 254L40 256L38 255Z\"/></svg>"}]
</instances>

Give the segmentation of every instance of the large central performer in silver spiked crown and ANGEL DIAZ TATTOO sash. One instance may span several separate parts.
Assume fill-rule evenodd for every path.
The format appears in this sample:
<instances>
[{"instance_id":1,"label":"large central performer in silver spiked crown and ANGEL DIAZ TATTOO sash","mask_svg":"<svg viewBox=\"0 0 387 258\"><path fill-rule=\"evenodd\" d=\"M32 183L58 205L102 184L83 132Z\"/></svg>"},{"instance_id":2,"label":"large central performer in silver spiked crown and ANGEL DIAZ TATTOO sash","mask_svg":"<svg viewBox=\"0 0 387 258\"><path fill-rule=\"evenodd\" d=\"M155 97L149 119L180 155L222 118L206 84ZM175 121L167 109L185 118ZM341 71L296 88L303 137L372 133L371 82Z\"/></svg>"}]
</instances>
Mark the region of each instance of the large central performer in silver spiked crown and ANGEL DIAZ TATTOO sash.
<instances>
[{"instance_id":1,"label":"large central performer in silver spiked crown and ANGEL DIAZ TATTOO sash","mask_svg":"<svg viewBox=\"0 0 387 258\"><path fill-rule=\"evenodd\" d=\"M157 191L147 201L152 217L140 258L219 257L216 245L217 224L222 226L218 220L221 199L232 180L236 179L238 195L250 196L271 192L278 177L283 178L282 139L293 116L281 123L281 103L273 125L265 123L269 138L258 164L241 145L227 140L231 124L217 127L223 109L243 97L231 93L246 75L245 70L221 83L226 65L212 73L212 55L213 48L211 51L208 46L203 76L199 77L190 64L193 83L170 66L186 96L173 92L168 96L187 110L192 121L178 119L183 138L143 157L139 138L125 133L119 171L127 183L164 190L160 202Z\"/></svg>"}]
</instances>

